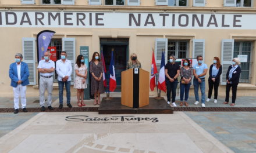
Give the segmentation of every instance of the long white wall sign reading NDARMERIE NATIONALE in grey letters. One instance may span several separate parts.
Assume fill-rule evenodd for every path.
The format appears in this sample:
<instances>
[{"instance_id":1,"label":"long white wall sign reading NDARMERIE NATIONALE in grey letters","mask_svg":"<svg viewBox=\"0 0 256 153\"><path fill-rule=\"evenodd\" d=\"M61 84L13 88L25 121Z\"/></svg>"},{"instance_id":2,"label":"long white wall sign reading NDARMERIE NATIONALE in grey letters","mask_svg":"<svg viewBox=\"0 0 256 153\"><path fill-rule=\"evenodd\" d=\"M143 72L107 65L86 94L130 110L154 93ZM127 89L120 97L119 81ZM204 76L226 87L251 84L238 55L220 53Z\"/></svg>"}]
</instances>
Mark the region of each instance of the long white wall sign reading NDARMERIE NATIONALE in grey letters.
<instances>
[{"instance_id":1,"label":"long white wall sign reading NDARMERIE NATIONALE in grey letters","mask_svg":"<svg viewBox=\"0 0 256 153\"><path fill-rule=\"evenodd\" d=\"M256 14L1 11L0 27L256 29Z\"/></svg>"}]
</instances>

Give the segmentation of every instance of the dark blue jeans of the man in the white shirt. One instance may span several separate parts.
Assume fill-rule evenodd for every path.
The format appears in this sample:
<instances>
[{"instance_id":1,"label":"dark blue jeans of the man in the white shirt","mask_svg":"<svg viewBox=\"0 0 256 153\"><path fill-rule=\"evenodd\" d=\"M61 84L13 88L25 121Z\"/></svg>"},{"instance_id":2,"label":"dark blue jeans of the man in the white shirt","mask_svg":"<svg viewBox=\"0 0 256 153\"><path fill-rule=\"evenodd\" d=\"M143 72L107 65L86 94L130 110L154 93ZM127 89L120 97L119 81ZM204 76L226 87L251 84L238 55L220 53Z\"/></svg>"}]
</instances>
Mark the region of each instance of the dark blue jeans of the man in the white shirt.
<instances>
[{"instance_id":1,"label":"dark blue jeans of the man in the white shirt","mask_svg":"<svg viewBox=\"0 0 256 153\"><path fill-rule=\"evenodd\" d=\"M67 104L70 104L70 81L58 81L59 83L59 104L63 104L63 89L64 84L66 87L66 93L67 93Z\"/></svg>"}]
</instances>

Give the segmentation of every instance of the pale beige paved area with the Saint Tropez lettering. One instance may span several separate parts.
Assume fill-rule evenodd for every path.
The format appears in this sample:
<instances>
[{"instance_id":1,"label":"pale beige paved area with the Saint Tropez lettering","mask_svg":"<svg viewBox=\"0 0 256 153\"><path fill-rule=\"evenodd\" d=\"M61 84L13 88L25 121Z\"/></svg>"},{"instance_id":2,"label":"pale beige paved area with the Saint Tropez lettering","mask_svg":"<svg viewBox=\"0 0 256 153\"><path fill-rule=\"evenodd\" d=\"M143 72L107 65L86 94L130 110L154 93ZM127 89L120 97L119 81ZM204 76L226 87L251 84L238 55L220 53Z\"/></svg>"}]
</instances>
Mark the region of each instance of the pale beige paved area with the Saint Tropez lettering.
<instances>
[{"instance_id":1,"label":"pale beige paved area with the Saint Tropez lettering","mask_svg":"<svg viewBox=\"0 0 256 153\"><path fill-rule=\"evenodd\" d=\"M0 138L0 152L49 151L233 152L183 112L126 115L123 121L97 112L40 112Z\"/></svg>"}]
</instances>

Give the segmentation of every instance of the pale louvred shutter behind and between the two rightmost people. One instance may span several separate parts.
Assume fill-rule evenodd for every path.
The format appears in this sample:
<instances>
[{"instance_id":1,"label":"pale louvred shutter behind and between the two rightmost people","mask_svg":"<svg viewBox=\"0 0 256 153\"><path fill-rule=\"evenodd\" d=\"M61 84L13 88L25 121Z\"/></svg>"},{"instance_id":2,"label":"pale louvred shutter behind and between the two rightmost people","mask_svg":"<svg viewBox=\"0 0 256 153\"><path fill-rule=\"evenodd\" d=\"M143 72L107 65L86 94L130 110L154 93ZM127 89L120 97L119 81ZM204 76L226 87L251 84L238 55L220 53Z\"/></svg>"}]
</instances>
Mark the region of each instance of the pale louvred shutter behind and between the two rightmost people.
<instances>
[{"instance_id":1,"label":"pale louvred shutter behind and between the two rightmost people","mask_svg":"<svg viewBox=\"0 0 256 153\"><path fill-rule=\"evenodd\" d=\"M221 44L221 63L222 63L222 75L221 85L226 85L226 74L229 65L232 63L234 54L234 39L222 39Z\"/></svg>"}]
</instances>

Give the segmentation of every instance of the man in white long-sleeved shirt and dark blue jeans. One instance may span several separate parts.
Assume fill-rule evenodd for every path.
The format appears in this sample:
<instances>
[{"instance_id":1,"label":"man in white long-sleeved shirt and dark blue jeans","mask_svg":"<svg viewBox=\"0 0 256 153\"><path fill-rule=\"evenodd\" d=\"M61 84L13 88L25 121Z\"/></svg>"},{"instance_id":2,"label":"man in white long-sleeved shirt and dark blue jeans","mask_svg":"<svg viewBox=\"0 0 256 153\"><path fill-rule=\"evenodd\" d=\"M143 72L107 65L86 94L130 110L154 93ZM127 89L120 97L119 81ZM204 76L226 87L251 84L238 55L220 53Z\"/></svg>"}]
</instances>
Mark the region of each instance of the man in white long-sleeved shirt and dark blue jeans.
<instances>
[{"instance_id":1,"label":"man in white long-sleeved shirt and dark blue jeans","mask_svg":"<svg viewBox=\"0 0 256 153\"><path fill-rule=\"evenodd\" d=\"M59 108L63 107L63 88L66 87L66 96L67 96L67 106L72 108L70 104L70 81L72 74L72 65L71 61L66 59L67 53L65 51L61 52L61 60L56 62L56 71L58 74L58 83L59 83Z\"/></svg>"}]
</instances>

